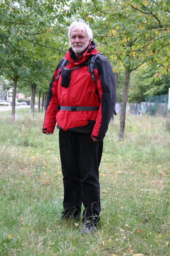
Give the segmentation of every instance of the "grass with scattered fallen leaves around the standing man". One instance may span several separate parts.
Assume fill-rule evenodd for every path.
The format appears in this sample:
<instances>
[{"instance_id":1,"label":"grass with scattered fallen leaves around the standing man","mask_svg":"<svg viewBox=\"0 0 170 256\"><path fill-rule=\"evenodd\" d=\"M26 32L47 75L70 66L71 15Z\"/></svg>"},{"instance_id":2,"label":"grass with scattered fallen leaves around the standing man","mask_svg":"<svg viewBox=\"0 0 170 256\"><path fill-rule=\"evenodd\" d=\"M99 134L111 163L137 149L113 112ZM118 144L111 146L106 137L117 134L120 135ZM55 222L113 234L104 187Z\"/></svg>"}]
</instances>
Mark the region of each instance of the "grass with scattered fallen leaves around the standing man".
<instances>
[{"instance_id":1,"label":"grass with scattered fallen leaves around the standing man","mask_svg":"<svg viewBox=\"0 0 170 256\"><path fill-rule=\"evenodd\" d=\"M101 222L61 221L58 130L42 134L44 113L0 112L0 255L170 256L170 133L167 119L119 115L109 126L100 165Z\"/></svg>"}]
</instances>

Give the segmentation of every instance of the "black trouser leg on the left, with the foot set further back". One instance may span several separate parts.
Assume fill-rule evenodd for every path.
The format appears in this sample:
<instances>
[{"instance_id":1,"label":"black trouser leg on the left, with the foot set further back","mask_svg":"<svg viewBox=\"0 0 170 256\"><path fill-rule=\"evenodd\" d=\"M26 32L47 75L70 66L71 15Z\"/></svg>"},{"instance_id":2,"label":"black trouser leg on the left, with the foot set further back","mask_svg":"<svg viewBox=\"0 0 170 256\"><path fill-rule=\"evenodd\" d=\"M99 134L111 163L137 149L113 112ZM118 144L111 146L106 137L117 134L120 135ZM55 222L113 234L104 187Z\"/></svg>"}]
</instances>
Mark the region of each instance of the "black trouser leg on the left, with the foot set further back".
<instances>
[{"instance_id":1,"label":"black trouser leg on the left, with the foot set further back","mask_svg":"<svg viewBox=\"0 0 170 256\"><path fill-rule=\"evenodd\" d=\"M73 133L59 130L59 150L62 166L64 200L62 214L78 216L81 212L81 176L77 145Z\"/></svg>"}]
</instances>

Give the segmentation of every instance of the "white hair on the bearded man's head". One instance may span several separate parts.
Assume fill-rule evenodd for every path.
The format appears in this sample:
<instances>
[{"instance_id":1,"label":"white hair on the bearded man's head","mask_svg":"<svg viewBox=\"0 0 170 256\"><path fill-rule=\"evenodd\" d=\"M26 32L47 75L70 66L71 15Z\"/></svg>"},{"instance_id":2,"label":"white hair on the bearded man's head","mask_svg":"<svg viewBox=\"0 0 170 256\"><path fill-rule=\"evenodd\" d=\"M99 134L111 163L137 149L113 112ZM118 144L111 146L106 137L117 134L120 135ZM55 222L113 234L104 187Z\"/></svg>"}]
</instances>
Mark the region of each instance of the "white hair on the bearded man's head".
<instances>
[{"instance_id":1,"label":"white hair on the bearded man's head","mask_svg":"<svg viewBox=\"0 0 170 256\"><path fill-rule=\"evenodd\" d=\"M69 42L71 44L71 41L70 41L70 34L71 34L71 29L76 27L76 29L78 31L81 31L82 28L85 28L85 31L86 31L86 34L87 34L87 37L88 37L88 40L91 42L92 41L92 38L93 38L93 32L91 30L91 28L85 24L84 22L78 22L78 21L74 21L71 23L71 25L69 26L69 29L68 29L68 39L69 39Z\"/></svg>"}]
</instances>

